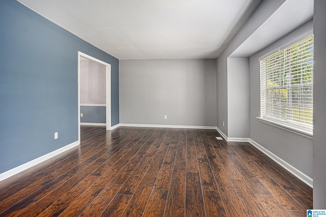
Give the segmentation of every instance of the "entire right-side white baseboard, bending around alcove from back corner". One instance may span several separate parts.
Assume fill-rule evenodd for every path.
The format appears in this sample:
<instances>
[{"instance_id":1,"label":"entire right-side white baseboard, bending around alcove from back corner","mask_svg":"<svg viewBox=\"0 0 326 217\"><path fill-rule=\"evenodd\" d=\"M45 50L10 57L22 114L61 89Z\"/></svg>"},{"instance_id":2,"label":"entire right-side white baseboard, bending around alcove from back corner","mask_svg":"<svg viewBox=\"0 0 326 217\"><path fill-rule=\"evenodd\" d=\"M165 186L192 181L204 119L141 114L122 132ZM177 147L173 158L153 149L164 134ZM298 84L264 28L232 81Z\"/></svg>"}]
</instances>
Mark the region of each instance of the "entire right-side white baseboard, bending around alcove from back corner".
<instances>
[{"instance_id":1,"label":"entire right-side white baseboard, bending around alcove from back corner","mask_svg":"<svg viewBox=\"0 0 326 217\"><path fill-rule=\"evenodd\" d=\"M228 142L249 142L250 144L255 146L257 149L259 149L261 152L266 154L266 156L268 156L271 160L275 161L281 167L283 167L284 169L286 169L287 171L289 171L290 173L295 175L298 179L302 180L303 182L308 184L311 188L313 188L313 180L312 180L312 178L310 178L309 176L307 176L306 174L304 174L300 170L296 169L295 167L293 167L292 165L290 165L286 161L282 160L281 158L276 156L276 154L270 152L269 150L267 150L266 148L264 148L263 146L261 146L260 144L255 142L254 140L252 140L250 138L228 138L218 127L216 127L216 130Z\"/></svg>"}]
</instances>

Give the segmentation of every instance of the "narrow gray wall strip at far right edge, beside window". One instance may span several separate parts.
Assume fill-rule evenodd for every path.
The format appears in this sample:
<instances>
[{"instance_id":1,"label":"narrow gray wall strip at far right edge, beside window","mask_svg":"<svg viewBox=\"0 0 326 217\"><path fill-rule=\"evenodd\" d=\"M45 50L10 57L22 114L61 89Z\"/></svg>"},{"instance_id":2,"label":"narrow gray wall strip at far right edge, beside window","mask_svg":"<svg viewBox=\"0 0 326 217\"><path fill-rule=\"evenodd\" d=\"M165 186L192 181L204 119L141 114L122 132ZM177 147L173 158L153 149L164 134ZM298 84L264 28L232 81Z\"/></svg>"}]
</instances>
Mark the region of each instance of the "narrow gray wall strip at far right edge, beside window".
<instances>
[{"instance_id":1,"label":"narrow gray wall strip at far right edge, beside window","mask_svg":"<svg viewBox=\"0 0 326 217\"><path fill-rule=\"evenodd\" d=\"M326 207L326 1L314 1L314 209Z\"/></svg>"}]
</instances>

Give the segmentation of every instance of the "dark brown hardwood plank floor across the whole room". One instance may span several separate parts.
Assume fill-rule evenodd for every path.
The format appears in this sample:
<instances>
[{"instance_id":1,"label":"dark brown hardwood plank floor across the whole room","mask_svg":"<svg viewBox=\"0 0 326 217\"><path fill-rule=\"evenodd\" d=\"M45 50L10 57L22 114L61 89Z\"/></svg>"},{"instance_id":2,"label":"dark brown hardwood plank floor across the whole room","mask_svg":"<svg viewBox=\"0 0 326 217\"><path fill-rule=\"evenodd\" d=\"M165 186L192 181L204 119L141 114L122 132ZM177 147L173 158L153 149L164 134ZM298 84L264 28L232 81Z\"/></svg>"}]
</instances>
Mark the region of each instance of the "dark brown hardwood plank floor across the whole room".
<instances>
[{"instance_id":1,"label":"dark brown hardwood plank floor across the whole room","mask_svg":"<svg viewBox=\"0 0 326 217\"><path fill-rule=\"evenodd\" d=\"M0 216L306 216L312 189L215 130L82 127L82 143L0 182Z\"/></svg>"}]
</instances>

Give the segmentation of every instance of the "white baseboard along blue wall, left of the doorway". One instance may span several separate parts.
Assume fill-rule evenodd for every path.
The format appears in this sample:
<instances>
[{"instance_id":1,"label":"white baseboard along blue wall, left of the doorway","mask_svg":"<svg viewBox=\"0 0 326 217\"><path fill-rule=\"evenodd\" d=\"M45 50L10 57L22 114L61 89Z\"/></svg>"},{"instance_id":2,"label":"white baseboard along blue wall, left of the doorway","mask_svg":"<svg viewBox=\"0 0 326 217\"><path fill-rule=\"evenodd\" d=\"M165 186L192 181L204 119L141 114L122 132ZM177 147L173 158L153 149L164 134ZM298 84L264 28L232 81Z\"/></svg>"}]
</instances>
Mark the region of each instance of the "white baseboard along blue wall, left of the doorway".
<instances>
[{"instance_id":1,"label":"white baseboard along blue wall, left of the doorway","mask_svg":"<svg viewBox=\"0 0 326 217\"><path fill-rule=\"evenodd\" d=\"M22 165L20 165L18 167L15 167L15 168L11 169L11 170L3 172L3 173L0 174L0 181L5 180L6 178L9 178L9 177L11 177L13 175L16 175L17 173L20 173L20 172L22 172L22 171L24 171L26 169L29 169L29 168L37 165L37 164L40 164L40 163L42 163L42 162L44 162L44 161L46 161L46 160L48 160L50 158L53 158L53 157L57 156L58 154L60 154L62 152L65 152L65 151L67 151L67 150L69 150L69 149L71 149L71 148L73 148L73 147L75 147L75 146L77 146L79 144L80 144L80 141L75 141L75 142L73 142L73 143L71 143L69 145L66 145L66 146L62 147L62 148L59 148L59 149L54 150L54 151L52 151L50 153L44 154L43 156L41 156L41 157L39 157L37 159L34 159L34 160L30 161L30 162L22 164Z\"/></svg>"}]
</instances>

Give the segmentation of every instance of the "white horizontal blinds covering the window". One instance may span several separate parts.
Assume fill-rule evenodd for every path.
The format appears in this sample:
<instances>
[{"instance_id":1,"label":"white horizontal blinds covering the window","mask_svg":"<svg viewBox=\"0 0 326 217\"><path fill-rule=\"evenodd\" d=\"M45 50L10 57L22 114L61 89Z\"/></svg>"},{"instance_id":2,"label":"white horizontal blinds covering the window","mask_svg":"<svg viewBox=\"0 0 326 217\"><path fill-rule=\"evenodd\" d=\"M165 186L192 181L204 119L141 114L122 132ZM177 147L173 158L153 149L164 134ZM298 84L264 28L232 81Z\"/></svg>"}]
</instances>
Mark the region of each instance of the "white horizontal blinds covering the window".
<instances>
[{"instance_id":1,"label":"white horizontal blinds covering the window","mask_svg":"<svg viewBox=\"0 0 326 217\"><path fill-rule=\"evenodd\" d=\"M313 36L260 60L262 119L313 130Z\"/></svg>"}]
</instances>

